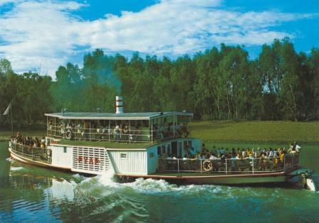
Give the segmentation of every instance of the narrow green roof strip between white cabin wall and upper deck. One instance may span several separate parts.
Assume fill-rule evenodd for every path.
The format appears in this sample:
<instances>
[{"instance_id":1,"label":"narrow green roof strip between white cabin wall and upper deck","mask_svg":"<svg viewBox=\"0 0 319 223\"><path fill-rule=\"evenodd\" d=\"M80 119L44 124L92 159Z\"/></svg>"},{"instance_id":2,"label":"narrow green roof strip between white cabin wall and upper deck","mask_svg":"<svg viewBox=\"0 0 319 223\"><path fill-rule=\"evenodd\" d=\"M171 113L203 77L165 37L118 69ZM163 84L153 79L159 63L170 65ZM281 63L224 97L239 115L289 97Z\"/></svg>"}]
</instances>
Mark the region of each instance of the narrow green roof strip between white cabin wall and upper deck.
<instances>
[{"instance_id":1,"label":"narrow green roof strip between white cabin wall and upper deck","mask_svg":"<svg viewBox=\"0 0 319 223\"><path fill-rule=\"evenodd\" d=\"M151 143L118 143L118 142L105 142L105 141L69 141L61 140L59 144L66 144L72 146L97 146L107 148L147 148L152 146Z\"/></svg>"}]
</instances>

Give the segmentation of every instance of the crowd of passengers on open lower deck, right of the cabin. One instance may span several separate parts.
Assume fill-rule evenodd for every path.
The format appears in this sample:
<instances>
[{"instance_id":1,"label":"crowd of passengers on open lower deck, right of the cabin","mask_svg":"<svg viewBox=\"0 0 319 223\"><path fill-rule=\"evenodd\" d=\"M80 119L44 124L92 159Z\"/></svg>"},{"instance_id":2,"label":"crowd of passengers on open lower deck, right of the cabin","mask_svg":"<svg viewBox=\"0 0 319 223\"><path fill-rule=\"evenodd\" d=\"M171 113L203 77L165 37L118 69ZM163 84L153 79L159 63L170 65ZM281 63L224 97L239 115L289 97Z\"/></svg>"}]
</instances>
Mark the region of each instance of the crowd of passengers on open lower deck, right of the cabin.
<instances>
[{"instance_id":1,"label":"crowd of passengers on open lower deck, right of the cabin","mask_svg":"<svg viewBox=\"0 0 319 223\"><path fill-rule=\"evenodd\" d=\"M186 146L186 155L182 161L205 160L212 164L212 171L225 171L226 165L231 171L245 170L281 170L284 165L289 166L298 162L300 154L300 146L297 143L291 143L289 148L216 148L213 146L211 150L207 149L205 144L202 144L202 149L196 151L194 147ZM291 156L288 156L291 155ZM166 160L177 159L175 154L162 154L160 158ZM226 162L228 160L228 162ZM185 168L187 163L182 162L180 168ZM192 163L192 162L191 162ZM285 164L284 164L285 163ZM253 167L254 166L254 167ZM169 168L169 167L168 167ZM172 168L176 168L175 165ZM188 167L189 168L189 167ZM193 166L196 168L196 166ZM188 170L187 168L185 170ZM189 169L194 170L194 169Z\"/></svg>"}]
</instances>

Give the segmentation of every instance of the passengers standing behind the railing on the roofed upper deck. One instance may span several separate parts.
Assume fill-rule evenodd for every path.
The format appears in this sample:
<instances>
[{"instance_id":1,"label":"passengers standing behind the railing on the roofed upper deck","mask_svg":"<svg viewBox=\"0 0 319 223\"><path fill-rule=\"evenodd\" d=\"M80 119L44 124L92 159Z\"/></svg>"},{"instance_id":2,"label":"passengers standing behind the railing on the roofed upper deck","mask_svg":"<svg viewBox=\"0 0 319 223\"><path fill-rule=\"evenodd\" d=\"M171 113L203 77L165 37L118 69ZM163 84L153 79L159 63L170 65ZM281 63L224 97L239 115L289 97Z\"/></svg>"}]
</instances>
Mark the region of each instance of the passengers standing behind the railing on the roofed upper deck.
<instances>
[{"instance_id":1,"label":"passengers standing behind the railing on the roofed upper deck","mask_svg":"<svg viewBox=\"0 0 319 223\"><path fill-rule=\"evenodd\" d=\"M53 120L48 122L48 134L53 136L63 136L68 139L92 140L92 141L156 141L163 138L182 137L187 138L189 131L186 124L179 126L173 122L164 124L154 124L143 127L141 124L131 125L125 121L115 122L109 125L98 124L96 122L81 121L75 126L74 122L58 122L56 126ZM145 140L147 136L147 140ZM152 138L151 138L152 137Z\"/></svg>"}]
</instances>

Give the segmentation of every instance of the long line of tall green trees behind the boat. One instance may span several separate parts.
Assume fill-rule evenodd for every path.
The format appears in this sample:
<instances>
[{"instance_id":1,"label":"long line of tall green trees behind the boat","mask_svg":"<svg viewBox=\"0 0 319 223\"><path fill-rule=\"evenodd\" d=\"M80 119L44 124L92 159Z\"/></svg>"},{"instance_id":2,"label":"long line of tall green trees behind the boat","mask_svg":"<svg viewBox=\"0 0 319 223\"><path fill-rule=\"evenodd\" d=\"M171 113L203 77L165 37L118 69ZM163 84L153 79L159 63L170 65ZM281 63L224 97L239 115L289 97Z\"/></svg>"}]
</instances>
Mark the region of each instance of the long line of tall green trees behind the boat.
<instances>
[{"instance_id":1,"label":"long line of tall green trees behind the boat","mask_svg":"<svg viewBox=\"0 0 319 223\"><path fill-rule=\"evenodd\" d=\"M221 44L176 60L95 50L83 68L58 67L56 81L36 73L16 75L0 64L1 111L12 99L15 120L34 124L45 112L114 112L115 94L125 112L194 112L197 119L318 119L319 49L297 53L288 38L263 45L255 60L241 46ZM6 119L1 119L7 125Z\"/></svg>"}]
</instances>

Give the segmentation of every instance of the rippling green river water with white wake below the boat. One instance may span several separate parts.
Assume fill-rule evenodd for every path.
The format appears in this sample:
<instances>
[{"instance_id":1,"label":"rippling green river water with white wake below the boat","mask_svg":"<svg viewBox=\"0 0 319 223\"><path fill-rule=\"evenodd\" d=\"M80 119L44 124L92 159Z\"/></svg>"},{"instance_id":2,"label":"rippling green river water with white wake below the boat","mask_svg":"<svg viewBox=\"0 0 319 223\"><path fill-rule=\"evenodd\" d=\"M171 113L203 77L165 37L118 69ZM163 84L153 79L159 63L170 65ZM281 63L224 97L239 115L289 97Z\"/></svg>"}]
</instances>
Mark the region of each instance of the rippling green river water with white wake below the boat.
<instances>
[{"instance_id":1,"label":"rippling green river water with white wake below the boat","mask_svg":"<svg viewBox=\"0 0 319 223\"><path fill-rule=\"evenodd\" d=\"M313 149L303 153L312 157ZM142 179L115 183L108 175L89 178L22 165L0 142L0 222L318 221L319 192Z\"/></svg>"}]
</instances>

